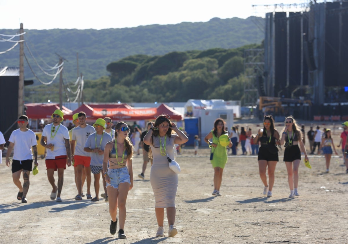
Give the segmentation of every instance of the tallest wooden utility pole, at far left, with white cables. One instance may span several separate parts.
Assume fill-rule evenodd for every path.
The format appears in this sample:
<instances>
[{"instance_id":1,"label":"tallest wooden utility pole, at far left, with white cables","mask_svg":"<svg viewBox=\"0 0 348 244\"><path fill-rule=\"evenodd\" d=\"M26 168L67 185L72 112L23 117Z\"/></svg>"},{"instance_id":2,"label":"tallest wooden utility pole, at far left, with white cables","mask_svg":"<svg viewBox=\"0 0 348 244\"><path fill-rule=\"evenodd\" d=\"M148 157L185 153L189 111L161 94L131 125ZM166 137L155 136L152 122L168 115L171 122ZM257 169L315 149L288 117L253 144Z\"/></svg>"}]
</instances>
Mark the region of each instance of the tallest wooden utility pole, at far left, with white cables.
<instances>
[{"instance_id":1,"label":"tallest wooden utility pole, at far left, with white cables","mask_svg":"<svg viewBox=\"0 0 348 244\"><path fill-rule=\"evenodd\" d=\"M24 32L23 23L20 24L19 33ZM19 81L18 81L18 116L23 115L23 97L24 97L24 35L19 36Z\"/></svg>"}]
</instances>

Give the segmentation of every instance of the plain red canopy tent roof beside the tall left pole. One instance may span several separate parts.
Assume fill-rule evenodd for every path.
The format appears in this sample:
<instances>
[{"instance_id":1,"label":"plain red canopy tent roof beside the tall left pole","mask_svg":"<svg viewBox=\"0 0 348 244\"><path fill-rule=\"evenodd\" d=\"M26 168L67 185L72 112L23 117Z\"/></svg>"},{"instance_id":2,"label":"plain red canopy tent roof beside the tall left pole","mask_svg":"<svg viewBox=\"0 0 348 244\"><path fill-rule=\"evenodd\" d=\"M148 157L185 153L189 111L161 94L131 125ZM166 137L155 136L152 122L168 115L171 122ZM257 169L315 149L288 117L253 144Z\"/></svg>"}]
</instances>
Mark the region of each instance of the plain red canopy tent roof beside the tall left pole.
<instances>
[{"instance_id":1,"label":"plain red canopy tent roof beside the tall left pole","mask_svg":"<svg viewBox=\"0 0 348 244\"><path fill-rule=\"evenodd\" d=\"M50 118L54 110L60 109L59 104L37 104L29 103L24 105L26 107L26 115L29 119L45 119ZM70 114L72 111L69 108L62 106L63 113ZM64 115L64 119L65 118Z\"/></svg>"}]
</instances>

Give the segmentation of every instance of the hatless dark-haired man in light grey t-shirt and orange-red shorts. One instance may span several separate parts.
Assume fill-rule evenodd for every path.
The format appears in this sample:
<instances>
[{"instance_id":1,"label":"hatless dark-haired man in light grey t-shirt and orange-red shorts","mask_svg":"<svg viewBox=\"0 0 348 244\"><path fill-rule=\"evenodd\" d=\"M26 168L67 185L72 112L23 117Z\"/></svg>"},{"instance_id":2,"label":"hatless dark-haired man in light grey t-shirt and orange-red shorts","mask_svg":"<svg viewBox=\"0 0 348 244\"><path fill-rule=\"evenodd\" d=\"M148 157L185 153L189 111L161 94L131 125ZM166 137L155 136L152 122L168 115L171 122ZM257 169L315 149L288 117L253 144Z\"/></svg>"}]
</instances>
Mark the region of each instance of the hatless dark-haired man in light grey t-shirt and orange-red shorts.
<instances>
[{"instance_id":1,"label":"hatless dark-haired man in light grey t-shirt and orange-red shorts","mask_svg":"<svg viewBox=\"0 0 348 244\"><path fill-rule=\"evenodd\" d=\"M82 200L82 170L85 170L87 181L87 199L92 199L90 195L90 153L84 151L87 138L95 132L92 125L86 124L86 113L78 114L79 127L72 131L71 153L74 160L74 167L77 168L77 191L75 200ZM83 167L82 167L83 166Z\"/></svg>"}]
</instances>

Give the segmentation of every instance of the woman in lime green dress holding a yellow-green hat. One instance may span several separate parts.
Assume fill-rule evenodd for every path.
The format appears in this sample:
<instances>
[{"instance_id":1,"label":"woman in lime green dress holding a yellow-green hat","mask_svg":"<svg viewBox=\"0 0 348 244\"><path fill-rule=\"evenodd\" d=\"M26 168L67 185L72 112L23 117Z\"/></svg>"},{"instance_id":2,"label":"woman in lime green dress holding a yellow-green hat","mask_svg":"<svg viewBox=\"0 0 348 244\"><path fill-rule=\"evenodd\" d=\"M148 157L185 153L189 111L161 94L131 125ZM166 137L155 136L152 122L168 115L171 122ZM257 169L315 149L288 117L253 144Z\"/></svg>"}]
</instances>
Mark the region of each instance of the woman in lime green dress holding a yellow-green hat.
<instances>
[{"instance_id":1,"label":"woman in lime green dress holding a yellow-green hat","mask_svg":"<svg viewBox=\"0 0 348 244\"><path fill-rule=\"evenodd\" d=\"M214 129L204 138L204 141L212 148L210 162L214 168L214 191L212 193L214 196L221 196L220 186L222 172L227 162L226 146L232 147L228 131L224 130L225 124L226 123L223 119L216 119L214 122ZM227 134L228 142L226 140L226 135L224 134Z\"/></svg>"}]
</instances>

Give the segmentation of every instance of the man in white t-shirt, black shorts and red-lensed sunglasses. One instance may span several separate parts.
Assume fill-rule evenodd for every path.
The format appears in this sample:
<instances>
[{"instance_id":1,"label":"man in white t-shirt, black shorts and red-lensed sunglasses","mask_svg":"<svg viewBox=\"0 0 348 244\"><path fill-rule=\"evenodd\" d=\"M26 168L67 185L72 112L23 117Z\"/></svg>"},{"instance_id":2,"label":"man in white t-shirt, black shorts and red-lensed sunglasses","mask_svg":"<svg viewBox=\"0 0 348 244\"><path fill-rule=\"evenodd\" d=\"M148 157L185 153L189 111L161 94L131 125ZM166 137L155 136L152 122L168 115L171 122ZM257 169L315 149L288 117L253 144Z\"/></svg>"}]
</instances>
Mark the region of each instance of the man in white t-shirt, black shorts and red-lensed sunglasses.
<instances>
[{"instance_id":1,"label":"man in white t-shirt, black shorts and red-lensed sunglasses","mask_svg":"<svg viewBox=\"0 0 348 244\"><path fill-rule=\"evenodd\" d=\"M19 129L12 131L10 144L8 145L6 153L6 165L10 167L10 155L13 151L12 159L12 178L19 191L17 199L22 200L22 203L27 203L26 194L29 190L29 175L33 166L33 153L34 153L34 165L38 166L38 150L37 141L34 131L26 128L28 124L28 117L22 115L18 118L17 123ZM33 148L33 150L31 150ZM21 172L23 172L23 186L19 178L21 178Z\"/></svg>"}]
</instances>

